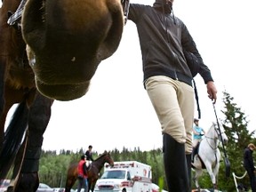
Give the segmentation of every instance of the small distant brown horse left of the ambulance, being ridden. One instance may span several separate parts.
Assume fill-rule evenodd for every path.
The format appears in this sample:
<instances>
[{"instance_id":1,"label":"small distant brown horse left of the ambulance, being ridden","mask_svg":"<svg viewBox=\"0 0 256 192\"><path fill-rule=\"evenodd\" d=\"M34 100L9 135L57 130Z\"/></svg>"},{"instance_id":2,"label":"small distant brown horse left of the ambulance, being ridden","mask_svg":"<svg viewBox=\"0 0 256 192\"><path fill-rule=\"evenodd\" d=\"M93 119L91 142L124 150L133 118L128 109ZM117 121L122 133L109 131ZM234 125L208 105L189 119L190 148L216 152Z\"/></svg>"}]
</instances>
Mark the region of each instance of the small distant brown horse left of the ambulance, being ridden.
<instances>
[{"instance_id":1,"label":"small distant brown horse left of the ambulance, being ridden","mask_svg":"<svg viewBox=\"0 0 256 192\"><path fill-rule=\"evenodd\" d=\"M88 169L88 191L90 191L91 189L91 191L93 192L95 183L99 179L99 173L103 168L104 164L106 163L110 164L110 166L114 166L114 161L111 158L110 154L107 152L99 156L92 162L92 164L90 164ZM68 167L65 192L70 192L71 188L77 180L77 165L78 163L70 164L70 166Z\"/></svg>"}]
</instances>

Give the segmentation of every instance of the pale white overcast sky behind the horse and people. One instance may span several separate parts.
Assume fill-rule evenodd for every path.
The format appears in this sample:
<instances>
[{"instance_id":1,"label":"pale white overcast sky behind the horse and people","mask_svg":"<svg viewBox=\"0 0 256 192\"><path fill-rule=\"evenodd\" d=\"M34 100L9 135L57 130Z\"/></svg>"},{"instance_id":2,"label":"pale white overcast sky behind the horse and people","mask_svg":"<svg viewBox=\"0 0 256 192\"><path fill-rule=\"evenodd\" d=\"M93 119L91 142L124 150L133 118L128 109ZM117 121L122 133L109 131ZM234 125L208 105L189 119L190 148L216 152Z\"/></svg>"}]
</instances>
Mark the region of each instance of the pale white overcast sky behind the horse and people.
<instances>
[{"instance_id":1,"label":"pale white overcast sky behind the horse and people","mask_svg":"<svg viewBox=\"0 0 256 192\"><path fill-rule=\"evenodd\" d=\"M131 0L153 4L154 0ZM175 0L174 14L185 22L204 63L211 69L218 89L217 114L223 117L223 91L256 126L255 6L254 0ZM44 132L45 150L78 150L92 145L99 153L114 148L150 150L162 146L156 113L142 84L140 44L131 20L114 55L100 63L89 92L78 100L55 101L52 118ZM196 76L205 130L215 121L201 76ZM196 109L195 109L196 111ZM197 114L196 114L197 116Z\"/></svg>"}]
</instances>

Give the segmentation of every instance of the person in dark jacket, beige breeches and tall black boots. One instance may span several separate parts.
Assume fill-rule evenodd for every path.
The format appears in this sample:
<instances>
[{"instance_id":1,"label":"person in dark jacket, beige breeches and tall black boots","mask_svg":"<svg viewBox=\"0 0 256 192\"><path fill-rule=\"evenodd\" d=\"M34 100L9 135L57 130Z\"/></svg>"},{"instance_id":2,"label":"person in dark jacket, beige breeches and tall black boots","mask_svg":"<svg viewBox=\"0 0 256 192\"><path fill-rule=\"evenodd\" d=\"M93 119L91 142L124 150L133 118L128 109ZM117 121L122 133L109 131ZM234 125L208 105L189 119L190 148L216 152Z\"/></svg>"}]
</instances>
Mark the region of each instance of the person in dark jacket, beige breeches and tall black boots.
<instances>
[{"instance_id":1,"label":"person in dark jacket, beige breeches and tall black boots","mask_svg":"<svg viewBox=\"0 0 256 192\"><path fill-rule=\"evenodd\" d=\"M125 3L125 0L122 1ZM156 0L153 6L129 4L140 39L143 83L156 110L163 132L164 172L169 192L191 191L192 127L194 119L194 71L185 53L196 58L198 72L206 84L208 97L217 100L210 69L196 49L185 24L172 12L173 0ZM184 53L185 52L185 53ZM187 58L188 59L188 58ZM193 72L193 76L192 76Z\"/></svg>"}]
</instances>

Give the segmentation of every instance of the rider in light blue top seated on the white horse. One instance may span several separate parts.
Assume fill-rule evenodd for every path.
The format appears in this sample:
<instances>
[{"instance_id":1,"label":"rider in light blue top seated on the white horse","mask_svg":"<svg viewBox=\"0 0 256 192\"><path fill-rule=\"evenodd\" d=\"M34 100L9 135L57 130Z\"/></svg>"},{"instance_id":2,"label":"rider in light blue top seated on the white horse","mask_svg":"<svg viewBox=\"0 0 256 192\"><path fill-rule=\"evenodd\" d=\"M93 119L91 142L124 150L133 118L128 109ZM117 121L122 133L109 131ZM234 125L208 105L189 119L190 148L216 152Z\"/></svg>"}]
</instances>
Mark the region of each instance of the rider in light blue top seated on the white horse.
<instances>
[{"instance_id":1,"label":"rider in light blue top seated on the white horse","mask_svg":"<svg viewBox=\"0 0 256 192\"><path fill-rule=\"evenodd\" d=\"M194 127L193 127L193 151L192 151L192 163L194 163L194 157L197 153L197 144L202 140L202 136L205 134L205 131L202 127L199 126L199 119L194 118ZM204 134L203 134L203 133Z\"/></svg>"}]
</instances>

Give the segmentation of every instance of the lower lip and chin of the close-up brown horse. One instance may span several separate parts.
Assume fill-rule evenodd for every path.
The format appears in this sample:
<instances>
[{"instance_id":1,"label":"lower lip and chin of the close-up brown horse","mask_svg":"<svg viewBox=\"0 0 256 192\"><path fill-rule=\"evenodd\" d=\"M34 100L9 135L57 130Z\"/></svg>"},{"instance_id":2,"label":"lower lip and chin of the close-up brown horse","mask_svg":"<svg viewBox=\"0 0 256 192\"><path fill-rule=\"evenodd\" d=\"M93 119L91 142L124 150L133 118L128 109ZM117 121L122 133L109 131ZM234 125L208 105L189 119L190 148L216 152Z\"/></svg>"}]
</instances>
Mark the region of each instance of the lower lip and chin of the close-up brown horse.
<instances>
[{"instance_id":1,"label":"lower lip and chin of the close-up brown horse","mask_svg":"<svg viewBox=\"0 0 256 192\"><path fill-rule=\"evenodd\" d=\"M90 81L83 84L44 84L36 79L36 88L45 97L53 100L76 100L88 91Z\"/></svg>"}]
</instances>

